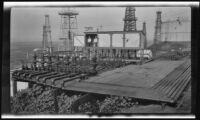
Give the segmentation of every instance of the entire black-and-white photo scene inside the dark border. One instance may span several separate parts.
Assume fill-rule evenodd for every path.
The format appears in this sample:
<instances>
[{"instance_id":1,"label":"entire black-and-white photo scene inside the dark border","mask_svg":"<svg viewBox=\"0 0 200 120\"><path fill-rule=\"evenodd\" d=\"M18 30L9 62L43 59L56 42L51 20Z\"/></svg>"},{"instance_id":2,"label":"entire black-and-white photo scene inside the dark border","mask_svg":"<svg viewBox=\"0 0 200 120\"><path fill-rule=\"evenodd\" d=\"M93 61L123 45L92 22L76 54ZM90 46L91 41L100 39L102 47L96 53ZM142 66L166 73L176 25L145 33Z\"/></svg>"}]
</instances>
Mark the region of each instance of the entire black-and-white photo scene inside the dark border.
<instances>
[{"instance_id":1,"label":"entire black-and-white photo scene inside the dark border","mask_svg":"<svg viewBox=\"0 0 200 120\"><path fill-rule=\"evenodd\" d=\"M191 6L142 3L14 4L9 114L190 115Z\"/></svg>"}]
</instances>

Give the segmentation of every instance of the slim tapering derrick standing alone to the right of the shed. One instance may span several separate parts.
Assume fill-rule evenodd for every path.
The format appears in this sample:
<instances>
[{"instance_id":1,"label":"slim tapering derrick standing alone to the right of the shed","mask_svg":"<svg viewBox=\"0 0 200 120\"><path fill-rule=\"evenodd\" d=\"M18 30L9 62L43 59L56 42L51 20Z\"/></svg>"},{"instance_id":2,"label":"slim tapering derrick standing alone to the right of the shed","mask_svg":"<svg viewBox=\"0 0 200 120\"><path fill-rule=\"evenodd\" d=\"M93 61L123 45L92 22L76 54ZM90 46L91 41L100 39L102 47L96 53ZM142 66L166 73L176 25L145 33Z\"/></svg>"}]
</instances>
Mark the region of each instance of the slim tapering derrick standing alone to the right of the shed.
<instances>
[{"instance_id":1,"label":"slim tapering derrick standing alone to the right of the shed","mask_svg":"<svg viewBox=\"0 0 200 120\"><path fill-rule=\"evenodd\" d=\"M156 26L155 26L155 36L154 36L154 44L157 44L161 41L161 11L157 11L157 18L156 18Z\"/></svg>"}]
</instances>

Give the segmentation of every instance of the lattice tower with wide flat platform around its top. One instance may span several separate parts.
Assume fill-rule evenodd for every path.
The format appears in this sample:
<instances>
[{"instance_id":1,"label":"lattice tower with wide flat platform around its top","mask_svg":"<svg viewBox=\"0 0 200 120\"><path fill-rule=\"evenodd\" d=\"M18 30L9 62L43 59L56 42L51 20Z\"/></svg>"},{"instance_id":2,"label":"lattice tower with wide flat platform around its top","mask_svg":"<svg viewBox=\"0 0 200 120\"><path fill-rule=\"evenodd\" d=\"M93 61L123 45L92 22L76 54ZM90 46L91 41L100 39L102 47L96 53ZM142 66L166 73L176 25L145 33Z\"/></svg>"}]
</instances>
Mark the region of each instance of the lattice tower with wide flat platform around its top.
<instances>
[{"instance_id":1,"label":"lattice tower with wide flat platform around its top","mask_svg":"<svg viewBox=\"0 0 200 120\"><path fill-rule=\"evenodd\" d=\"M59 15L61 16L61 35L59 39L64 41L65 51L72 51L74 48L73 36L77 30L76 16L78 12L68 8L68 10L63 9L60 11Z\"/></svg>"}]
</instances>

